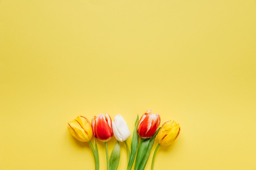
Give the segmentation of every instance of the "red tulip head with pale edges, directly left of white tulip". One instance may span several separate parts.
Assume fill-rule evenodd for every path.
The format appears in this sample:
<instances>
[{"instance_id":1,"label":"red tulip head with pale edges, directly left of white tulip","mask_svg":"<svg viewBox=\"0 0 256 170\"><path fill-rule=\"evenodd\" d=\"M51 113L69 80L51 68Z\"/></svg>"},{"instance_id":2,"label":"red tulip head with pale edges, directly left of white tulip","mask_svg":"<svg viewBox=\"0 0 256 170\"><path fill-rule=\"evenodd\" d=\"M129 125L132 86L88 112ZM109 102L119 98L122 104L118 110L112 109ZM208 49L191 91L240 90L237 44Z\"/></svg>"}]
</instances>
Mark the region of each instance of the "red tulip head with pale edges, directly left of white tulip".
<instances>
[{"instance_id":1,"label":"red tulip head with pale edges, directly left of white tulip","mask_svg":"<svg viewBox=\"0 0 256 170\"><path fill-rule=\"evenodd\" d=\"M92 117L92 132L97 139L103 142L112 138L112 120L107 113Z\"/></svg>"}]
</instances>

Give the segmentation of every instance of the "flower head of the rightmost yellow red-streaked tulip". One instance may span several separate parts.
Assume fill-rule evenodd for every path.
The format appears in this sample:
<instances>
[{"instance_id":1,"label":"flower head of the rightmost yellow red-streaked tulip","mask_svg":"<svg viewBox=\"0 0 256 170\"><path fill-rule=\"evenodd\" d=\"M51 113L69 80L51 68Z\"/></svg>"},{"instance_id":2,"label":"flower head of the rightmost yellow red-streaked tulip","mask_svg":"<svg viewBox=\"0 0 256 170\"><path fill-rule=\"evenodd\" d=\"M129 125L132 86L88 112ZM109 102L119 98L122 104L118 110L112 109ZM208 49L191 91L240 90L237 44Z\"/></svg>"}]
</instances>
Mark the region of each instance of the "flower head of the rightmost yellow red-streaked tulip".
<instances>
[{"instance_id":1,"label":"flower head of the rightmost yellow red-streaked tulip","mask_svg":"<svg viewBox=\"0 0 256 170\"><path fill-rule=\"evenodd\" d=\"M180 124L175 121L166 121L157 133L156 140L160 145L170 145L180 133Z\"/></svg>"}]
</instances>

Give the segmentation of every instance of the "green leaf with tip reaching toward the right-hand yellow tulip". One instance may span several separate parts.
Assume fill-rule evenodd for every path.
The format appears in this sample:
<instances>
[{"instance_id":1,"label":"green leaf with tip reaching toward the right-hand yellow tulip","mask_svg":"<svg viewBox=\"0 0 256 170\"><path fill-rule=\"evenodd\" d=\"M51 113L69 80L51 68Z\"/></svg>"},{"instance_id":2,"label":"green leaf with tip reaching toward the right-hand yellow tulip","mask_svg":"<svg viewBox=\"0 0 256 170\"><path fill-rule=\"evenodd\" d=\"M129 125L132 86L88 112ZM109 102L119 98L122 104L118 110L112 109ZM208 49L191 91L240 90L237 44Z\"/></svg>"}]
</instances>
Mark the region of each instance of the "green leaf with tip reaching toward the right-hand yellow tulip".
<instances>
[{"instance_id":1,"label":"green leaf with tip reaching toward the right-hand yellow tulip","mask_svg":"<svg viewBox=\"0 0 256 170\"><path fill-rule=\"evenodd\" d=\"M153 144L155 142L155 137L156 137L159 129L160 128L158 128L158 130L155 132L153 137L151 137L150 139L146 139L146 140L148 140L148 146L147 146L147 148L143 148L144 150L141 149L141 151L144 152L144 155L143 155L143 157L141 157L141 160L139 160L139 163L137 164L137 169L135 169L135 170L144 170L145 169L148 158L149 158L149 155L150 155L150 152L151 152L151 149L152 149ZM139 154L139 151L138 151L138 154ZM138 157L138 155L137 155L137 157ZM135 167L136 167L136 163L135 163Z\"/></svg>"}]
</instances>

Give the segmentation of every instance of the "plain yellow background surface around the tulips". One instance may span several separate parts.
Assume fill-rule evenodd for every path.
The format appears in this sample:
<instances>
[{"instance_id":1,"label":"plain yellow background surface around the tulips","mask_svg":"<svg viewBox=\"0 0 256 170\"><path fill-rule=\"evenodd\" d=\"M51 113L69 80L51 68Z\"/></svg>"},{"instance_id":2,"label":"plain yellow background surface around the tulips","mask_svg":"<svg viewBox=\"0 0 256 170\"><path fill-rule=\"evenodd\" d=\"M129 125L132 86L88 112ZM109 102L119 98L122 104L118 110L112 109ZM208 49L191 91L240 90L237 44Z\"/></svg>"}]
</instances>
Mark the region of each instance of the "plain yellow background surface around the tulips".
<instances>
[{"instance_id":1,"label":"plain yellow background surface around the tulips","mask_svg":"<svg viewBox=\"0 0 256 170\"><path fill-rule=\"evenodd\" d=\"M67 122L149 109L155 170L256 170L255 0L0 0L0 170L93 170Z\"/></svg>"}]
</instances>

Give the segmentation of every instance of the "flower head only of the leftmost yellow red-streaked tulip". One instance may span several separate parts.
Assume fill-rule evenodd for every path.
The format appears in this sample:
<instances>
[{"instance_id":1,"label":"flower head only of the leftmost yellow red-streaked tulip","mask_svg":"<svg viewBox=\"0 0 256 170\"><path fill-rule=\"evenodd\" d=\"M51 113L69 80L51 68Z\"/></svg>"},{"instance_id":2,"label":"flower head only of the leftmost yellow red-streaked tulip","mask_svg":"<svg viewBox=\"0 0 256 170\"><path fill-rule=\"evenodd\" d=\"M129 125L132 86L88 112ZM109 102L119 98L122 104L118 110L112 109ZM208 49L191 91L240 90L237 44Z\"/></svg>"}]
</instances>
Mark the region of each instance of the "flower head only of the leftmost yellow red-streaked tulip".
<instances>
[{"instance_id":1,"label":"flower head only of the leftmost yellow red-streaked tulip","mask_svg":"<svg viewBox=\"0 0 256 170\"><path fill-rule=\"evenodd\" d=\"M78 116L67 124L67 129L77 140L88 142L92 139L92 127L86 117Z\"/></svg>"}]
</instances>

